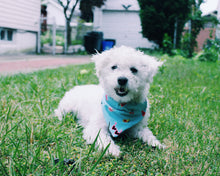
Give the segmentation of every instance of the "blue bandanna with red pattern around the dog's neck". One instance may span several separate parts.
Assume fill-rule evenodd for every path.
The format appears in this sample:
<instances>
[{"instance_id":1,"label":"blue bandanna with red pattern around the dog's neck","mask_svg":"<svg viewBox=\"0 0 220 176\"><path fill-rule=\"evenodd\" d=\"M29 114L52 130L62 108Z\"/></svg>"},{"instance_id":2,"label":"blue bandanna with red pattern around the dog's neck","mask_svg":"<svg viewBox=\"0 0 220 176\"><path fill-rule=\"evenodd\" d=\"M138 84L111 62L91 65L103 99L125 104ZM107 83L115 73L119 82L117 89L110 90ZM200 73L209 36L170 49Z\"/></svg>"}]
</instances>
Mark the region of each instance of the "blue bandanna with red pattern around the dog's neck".
<instances>
[{"instance_id":1,"label":"blue bandanna with red pattern around the dog's neck","mask_svg":"<svg viewBox=\"0 0 220 176\"><path fill-rule=\"evenodd\" d=\"M102 111L113 137L139 123L145 116L147 101L143 103L118 103L105 95L102 99Z\"/></svg>"}]
</instances>

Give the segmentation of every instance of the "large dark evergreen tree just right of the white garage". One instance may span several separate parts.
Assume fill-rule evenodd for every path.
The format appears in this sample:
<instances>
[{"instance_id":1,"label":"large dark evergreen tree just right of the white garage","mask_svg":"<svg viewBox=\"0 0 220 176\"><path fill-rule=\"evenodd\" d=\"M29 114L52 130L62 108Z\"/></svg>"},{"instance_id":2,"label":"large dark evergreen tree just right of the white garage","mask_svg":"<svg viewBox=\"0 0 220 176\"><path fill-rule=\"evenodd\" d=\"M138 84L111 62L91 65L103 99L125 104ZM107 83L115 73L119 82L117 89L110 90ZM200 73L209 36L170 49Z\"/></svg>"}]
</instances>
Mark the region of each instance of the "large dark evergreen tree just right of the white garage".
<instances>
[{"instance_id":1,"label":"large dark evergreen tree just right of the white garage","mask_svg":"<svg viewBox=\"0 0 220 176\"><path fill-rule=\"evenodd\" d=\"M176 44L179 47L183 27L190 13L191 0L138 0L138 2L143 36L163 47L165 34L173 42L176 30Z\"/></svg>"}]
</instances>

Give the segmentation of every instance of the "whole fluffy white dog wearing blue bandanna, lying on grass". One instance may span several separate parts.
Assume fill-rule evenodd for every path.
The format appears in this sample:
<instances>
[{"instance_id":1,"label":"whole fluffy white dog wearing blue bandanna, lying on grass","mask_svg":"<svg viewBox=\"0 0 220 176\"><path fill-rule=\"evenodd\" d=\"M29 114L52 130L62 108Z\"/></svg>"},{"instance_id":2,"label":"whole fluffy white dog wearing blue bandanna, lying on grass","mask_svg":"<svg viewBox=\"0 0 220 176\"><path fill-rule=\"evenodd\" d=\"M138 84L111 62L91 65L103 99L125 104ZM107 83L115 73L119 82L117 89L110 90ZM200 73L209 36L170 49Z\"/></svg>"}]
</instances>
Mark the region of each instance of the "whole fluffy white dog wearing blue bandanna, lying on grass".
<instances>
[{"instance_id":1,"label":"whole fluffy white dog wearing blue bandanna, lying on grass","mask_svg":"<svg viewBox=\"0 0 220 176\"><path fill-rule=\"evenodd\" d=\"M147 127L150 116L146 95L162 62L133 48L121 46L94 55L100 85L76 86L60 101L56 116L60 120L68 112L77 114L84 127L88 144L99 137L96 145L119 156L120 148L113 138L126 131L148 145L164 148Z\"/></svg>"}]
</instances>

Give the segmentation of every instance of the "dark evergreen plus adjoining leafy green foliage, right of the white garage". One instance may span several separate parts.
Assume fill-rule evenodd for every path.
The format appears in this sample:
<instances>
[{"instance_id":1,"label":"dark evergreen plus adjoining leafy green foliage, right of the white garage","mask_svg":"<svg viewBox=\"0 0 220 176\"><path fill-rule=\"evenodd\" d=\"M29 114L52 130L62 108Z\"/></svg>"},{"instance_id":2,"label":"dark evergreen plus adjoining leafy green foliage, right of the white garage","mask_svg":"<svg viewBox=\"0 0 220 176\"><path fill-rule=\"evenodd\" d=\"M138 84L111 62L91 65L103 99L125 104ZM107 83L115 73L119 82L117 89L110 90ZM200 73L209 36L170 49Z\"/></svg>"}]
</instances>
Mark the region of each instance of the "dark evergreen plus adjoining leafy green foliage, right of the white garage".
<instances>
[{"instance_id":1,"label":"dark evergreen plus adjoining leafy green foliage, right of the white garage","mask_svg":"<svg viewBox=\"0 0 220 176\"><path fill-rule=\"evenodd\" d=\"M154 41L169 54L172 54L175 24L177 24L177 48L182 48L182 54L191 58L197 46L196 38L204 24L210 21L213 24L218 23L216 17L202 16L200 5L203 0L138 0L138 2L141 8L143 36ZM182 38L187 21L190 21L190 31L185 31Z\"/></svg>"}]
</instances>

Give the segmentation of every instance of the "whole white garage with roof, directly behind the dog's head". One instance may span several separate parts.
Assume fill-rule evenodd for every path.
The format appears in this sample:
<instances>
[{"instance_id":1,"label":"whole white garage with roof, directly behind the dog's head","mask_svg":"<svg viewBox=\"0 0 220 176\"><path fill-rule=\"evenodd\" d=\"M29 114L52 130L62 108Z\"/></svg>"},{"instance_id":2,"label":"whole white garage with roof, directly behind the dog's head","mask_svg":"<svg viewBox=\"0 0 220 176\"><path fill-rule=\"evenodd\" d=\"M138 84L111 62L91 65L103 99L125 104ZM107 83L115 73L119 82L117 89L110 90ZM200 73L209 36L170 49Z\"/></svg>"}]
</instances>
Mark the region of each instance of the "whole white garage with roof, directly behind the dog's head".
<instances>
[{"instance_id":1,"label":"whole white garage with roof, directly behind the dog's head","mask_svg":"<svg viewBox=\"0 0 220 176\"><path fill-rule=\"evenodd\" d=\"M154 43L142 37L137 0L107 0L94 9L94 30L102 31L105 39L115 39L116 46L152 48Z\"/></svg>"}]
</instances>

